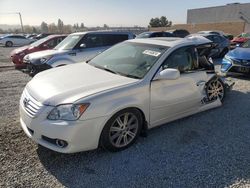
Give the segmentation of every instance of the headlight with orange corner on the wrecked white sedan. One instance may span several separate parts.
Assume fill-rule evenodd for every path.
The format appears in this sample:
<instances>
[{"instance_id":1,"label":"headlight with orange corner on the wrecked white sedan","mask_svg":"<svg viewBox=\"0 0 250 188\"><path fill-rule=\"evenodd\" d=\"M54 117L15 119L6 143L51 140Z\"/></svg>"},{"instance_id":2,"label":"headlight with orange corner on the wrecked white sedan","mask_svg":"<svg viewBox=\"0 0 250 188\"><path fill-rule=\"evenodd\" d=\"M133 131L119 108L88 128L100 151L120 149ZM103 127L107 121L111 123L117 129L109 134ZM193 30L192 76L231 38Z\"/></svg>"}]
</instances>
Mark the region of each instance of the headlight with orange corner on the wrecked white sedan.
<instances>
[{"instance_id":1,"label":"headlight with orange corner on the wrecked white sedan","mask_svg":"<svg viewBox=\"0 0 250 188\"><path fill-rule=\"evenodd\" d=\"M81 117L89 104L62 104L51 110L47 119L75 121Z\"/></svg>"}]
</instances>

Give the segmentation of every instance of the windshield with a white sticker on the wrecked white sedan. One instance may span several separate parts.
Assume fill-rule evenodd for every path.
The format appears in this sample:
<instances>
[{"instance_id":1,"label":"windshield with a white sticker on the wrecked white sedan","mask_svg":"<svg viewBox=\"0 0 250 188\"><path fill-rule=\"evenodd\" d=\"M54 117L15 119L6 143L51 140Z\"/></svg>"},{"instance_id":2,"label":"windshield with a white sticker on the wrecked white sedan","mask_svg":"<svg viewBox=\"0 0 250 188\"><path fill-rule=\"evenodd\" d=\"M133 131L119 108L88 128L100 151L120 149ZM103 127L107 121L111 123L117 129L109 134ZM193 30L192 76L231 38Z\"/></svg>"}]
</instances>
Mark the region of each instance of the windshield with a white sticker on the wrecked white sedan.
<instances>
[{"instance_id":1,"label":"windshield with a white sticker on the wrecked white sedan","mask_svg":"<svg viewBox=\"0 0 250 188\"><path fill-rule=\"evenodd\" d=\"M167 49L166 46L123 42L96 56L89 64L114 74L141 79Z\"/></svg>"}]
</instances>

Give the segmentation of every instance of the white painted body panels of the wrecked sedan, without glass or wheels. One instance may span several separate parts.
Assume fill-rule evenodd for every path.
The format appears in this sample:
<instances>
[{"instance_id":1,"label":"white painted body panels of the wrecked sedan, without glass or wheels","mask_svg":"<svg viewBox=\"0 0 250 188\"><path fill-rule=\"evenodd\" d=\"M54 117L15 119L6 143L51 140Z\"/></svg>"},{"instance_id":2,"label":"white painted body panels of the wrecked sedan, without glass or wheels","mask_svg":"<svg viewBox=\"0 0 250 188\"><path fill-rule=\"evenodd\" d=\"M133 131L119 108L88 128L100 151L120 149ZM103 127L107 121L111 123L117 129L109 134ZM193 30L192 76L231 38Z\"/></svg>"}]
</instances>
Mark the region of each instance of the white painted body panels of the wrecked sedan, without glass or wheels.
<instances>
[{"instance_id":1,"label":"white painted body panels of the wrecked sedan, without glass or wheels","mask_svg":"<svg viewBox=\"0 0 250 188\"><path fill-rule=\"evenodd\" d=\"M208 104L201 102L206 97L205 83L214 74L197 71L181 74L175 80L157 79L155 76L161 71L159 67L164 59L174 50L211 41L203 37L191 37L135 39L130 42L170 48L144 78L139 80L103 71L85 63L39 73L27 84L20 100L20 122L24 132L47 148L72 153L97 148L106 122L116 112L128 107L140 109L150 129L221 105L219 99ZM47 119L55 106L67 103L90 103L90 106L76 121ZM29 104L35 106L35 113L29 112ZM66 140L68 146L60 148L44 140L42 135Z\"/></svg>"}]
</instances>

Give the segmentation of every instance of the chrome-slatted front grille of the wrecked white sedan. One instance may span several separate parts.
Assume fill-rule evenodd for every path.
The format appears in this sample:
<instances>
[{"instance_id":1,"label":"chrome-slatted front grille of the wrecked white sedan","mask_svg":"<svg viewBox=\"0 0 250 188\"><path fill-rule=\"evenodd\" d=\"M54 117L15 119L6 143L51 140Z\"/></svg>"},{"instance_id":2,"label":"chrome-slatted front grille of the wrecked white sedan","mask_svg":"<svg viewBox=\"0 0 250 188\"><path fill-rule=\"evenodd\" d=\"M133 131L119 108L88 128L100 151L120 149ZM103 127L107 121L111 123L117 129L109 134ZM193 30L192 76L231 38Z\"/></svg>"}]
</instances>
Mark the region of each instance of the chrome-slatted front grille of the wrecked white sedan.
<instances>
[{"instance_id":1,"label":"chrome-slatted front grille of the wrecked white sedan","mask_svg":"<svg viewBox=\"0 0 250 188\"><path fill-rule=\"evenodd\" d=\"M38 102L36 99L34 99L27 90L23 91L22 97L21 97L21 103L27 114L35 118L36 115L41 111L43 105L42 103Z\"/></svg>"}]
</instances>

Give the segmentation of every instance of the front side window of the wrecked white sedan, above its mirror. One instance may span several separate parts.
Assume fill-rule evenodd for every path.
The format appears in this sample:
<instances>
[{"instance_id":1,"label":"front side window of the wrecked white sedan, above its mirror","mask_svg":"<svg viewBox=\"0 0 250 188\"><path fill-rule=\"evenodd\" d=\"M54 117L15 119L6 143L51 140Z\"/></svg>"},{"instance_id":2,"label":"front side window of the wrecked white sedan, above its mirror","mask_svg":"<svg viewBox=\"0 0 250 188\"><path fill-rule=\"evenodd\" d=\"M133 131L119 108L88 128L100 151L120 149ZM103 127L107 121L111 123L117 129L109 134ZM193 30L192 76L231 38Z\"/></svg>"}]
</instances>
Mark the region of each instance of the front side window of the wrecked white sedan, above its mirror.
<instances>
[{"instance_id":1,"label":"front side window of the wrecked white sedan, above its mirror","mask_svg":"<svg viewBox=\"0 0 250 188\"><path fill-rule=\"evenodd\" d=\"M178 69L180 73L188 72L194 68L194 48L184 47L174 51L162 65L162 69Z\"/></svg>"}]
</instances>

